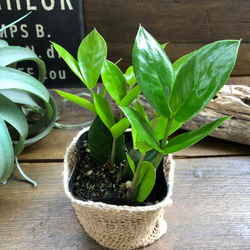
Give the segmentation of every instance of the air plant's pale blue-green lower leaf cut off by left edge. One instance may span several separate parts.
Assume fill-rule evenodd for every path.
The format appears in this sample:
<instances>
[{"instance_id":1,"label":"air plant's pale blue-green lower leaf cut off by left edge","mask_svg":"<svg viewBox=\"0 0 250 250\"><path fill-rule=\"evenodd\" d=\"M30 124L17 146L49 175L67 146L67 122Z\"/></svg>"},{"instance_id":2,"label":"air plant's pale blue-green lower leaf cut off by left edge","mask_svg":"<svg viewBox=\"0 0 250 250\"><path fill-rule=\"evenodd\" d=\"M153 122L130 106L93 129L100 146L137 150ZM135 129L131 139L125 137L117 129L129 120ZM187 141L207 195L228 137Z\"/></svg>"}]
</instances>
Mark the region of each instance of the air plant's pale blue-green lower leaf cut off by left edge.
<instances>
[{"instance_id":1,"label":"air plant's pale blue-green lower leaf cut off by left edge","mask_svg":"<svg viewBox=\"0 0 250 250\"><path fill-rule=\"evenodd\" d=\"M0 183L6 181L14 166L14 152L6 124L0 114Z\"/></svg>"}]
</instances>

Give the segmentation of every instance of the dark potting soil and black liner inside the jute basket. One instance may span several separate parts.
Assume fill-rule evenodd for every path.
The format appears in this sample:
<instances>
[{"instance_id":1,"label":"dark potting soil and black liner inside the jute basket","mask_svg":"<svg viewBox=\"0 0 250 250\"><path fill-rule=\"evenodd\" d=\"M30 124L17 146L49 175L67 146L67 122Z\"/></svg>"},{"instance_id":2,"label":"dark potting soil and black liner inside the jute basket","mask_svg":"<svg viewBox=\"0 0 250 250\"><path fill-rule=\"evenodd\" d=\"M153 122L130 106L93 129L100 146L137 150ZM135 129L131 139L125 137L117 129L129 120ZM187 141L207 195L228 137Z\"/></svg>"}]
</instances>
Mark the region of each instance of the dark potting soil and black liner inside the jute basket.
<instances>
[{"instance_id":1,"label":"dark potting soil and black liner inside the jute basket","mask_svg":"<svg viewBox=\"0 0 250 250\"><path fill-rule=\"evenodd\" d=\"M156 171L156 183L144 202L126 199L127 188L121 179L124 164L114 166L114 171L109 172L107 164L94 162L87 133L82 134L77 142L80 155L76 169L72 172L69 180L69 189L79 200L102 201L114 205L145 206L162 201L168 193L168 184L163 172L163 164ZM131 134L125 133L126 150L131 148ZM122 199L121 199L122 198Z\"/></svg>"}]
</instances>

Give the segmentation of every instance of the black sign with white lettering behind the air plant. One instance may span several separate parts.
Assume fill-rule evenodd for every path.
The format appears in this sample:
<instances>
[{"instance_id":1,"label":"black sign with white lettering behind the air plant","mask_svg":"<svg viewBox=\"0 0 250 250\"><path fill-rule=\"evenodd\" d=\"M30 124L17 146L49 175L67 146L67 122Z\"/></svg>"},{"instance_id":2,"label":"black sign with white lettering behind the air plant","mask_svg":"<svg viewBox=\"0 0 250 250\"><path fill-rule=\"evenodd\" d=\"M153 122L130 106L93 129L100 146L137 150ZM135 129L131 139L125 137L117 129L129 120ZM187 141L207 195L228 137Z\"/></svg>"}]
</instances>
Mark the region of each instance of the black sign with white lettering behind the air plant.
<instances>
[{"instance_id":1,"label":"black sign with white lettering behind the air plant","mask_svg":"<svg viewBox=\"0 0 250 250\"><path fill-rule=\"evenodd\" d=\"M82 0L0 0L0 27L30 11L25 19L0 32L0 39L32 49L45 62L46 87L83 86L50 43L60 44L76 58L84 36ZM37 74L32 62L20 63L18 68Z\"/></svg>"}]
</instances>

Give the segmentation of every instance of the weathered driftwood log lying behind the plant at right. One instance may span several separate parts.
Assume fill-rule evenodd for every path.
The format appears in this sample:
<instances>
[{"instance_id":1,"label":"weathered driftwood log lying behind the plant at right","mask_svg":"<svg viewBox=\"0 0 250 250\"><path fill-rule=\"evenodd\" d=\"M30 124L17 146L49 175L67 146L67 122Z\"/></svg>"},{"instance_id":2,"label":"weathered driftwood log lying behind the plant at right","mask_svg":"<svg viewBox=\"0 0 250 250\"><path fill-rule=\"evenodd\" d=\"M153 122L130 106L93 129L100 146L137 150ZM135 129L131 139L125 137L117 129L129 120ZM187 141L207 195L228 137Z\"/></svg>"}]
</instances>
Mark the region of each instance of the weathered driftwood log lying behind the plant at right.
<instances>
[{"instance_id":1,"label":"weathered driftwood log lying behind the plant at right","mask_svg":"<svg viewBox=\"0 0 250 250\"><path fill-rule=\"evenodd\" d=\"M185 122L186 130L194 130L219 117L233 116L210 135L250 145L250 87L225 85L197 116Z\"/></svg>"}]
</instances>

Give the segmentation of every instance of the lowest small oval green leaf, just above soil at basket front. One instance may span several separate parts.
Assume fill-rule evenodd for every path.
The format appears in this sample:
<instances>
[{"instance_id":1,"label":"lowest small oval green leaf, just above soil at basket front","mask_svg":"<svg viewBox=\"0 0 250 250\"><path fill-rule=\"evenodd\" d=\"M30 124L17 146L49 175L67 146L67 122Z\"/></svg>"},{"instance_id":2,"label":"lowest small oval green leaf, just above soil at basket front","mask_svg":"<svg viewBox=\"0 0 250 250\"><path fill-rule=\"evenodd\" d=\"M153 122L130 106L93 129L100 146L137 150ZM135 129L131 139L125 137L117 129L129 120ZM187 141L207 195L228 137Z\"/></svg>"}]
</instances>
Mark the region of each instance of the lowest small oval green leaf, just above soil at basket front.
<instances>
[{"instance_id":1,"label":"lowest small oval green leaf, just above soil at basket front","mask_svg":"<svg viewBox=\"0 0 250 250\"><path fill-rule=\"evenodd\" d=\"M144 161L135 184L134 200L143 202L152 191L156 179L154 166Z\"/></svg>"}]
</instances>

